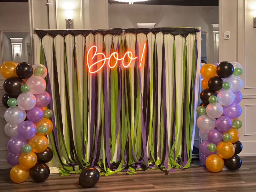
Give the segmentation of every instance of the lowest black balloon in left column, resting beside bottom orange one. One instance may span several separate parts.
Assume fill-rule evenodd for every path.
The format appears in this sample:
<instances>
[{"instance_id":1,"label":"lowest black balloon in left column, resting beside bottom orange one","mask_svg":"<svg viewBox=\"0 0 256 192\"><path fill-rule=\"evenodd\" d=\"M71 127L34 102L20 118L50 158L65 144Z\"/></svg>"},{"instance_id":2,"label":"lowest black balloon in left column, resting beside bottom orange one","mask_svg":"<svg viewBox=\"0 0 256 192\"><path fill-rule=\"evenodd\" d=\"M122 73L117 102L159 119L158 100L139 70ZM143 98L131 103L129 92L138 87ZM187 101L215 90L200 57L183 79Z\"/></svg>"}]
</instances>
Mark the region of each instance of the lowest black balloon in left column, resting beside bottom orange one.
<instances>
[{"instance_id":1,"label":"lowest black balloon in left column, resting beside bottom orange one","mask_svg":"<svg viewBox=\"0 0 256 192\"><path fill-rule=\"evenodd\" d=\"M29 170L31 178L36 182L45 181L50 175L50 169L45 163L37 163Z\"/></svg>"}]
</instances>

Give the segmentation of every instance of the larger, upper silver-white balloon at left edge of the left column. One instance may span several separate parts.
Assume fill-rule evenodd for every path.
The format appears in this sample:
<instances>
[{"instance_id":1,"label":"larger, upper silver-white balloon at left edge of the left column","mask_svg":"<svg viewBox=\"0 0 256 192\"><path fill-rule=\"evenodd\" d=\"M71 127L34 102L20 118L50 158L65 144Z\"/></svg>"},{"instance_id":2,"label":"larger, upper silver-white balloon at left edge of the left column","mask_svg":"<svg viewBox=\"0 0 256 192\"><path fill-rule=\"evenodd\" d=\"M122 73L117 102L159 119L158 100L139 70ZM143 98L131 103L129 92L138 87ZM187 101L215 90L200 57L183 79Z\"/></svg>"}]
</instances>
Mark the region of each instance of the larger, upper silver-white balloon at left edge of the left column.
<instances>
[{"instance_id":1,"label":"larger, upper silver-white balloon at left edge of the left column","mask_svg":"<svg viewBox=\"0 0 256 192\"><path fill-rule=\"evenodd\" d=\"M12 125L18 125L25 119L26 119L26 111L22 110L18 106L9 107L5 111L5 120Z\"/></svg>"}]
</instances>

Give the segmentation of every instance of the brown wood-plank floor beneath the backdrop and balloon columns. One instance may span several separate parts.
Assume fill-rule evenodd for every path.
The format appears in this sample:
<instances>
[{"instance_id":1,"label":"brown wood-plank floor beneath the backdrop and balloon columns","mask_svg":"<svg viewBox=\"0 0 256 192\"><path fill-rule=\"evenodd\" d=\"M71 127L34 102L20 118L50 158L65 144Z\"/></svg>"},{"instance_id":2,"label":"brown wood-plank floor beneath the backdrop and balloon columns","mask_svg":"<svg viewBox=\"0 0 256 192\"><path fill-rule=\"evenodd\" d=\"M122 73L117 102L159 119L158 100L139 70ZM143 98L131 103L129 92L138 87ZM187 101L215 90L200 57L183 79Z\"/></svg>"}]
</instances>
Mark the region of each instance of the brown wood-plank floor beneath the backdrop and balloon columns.
<instances>
[{"instance_id":1,"label":"brown wood-plank floor beneath the backdrop and balloon columns","mask_svg":"<svg viewBox=\"0 0 256 192\"><path fill-rule=\"evenodd\" d=\"M78 185L79 175L55 174L43 183L26 181L14 184L9 178L9 170L0 169L0 191L256 192L256 156L242 157L242 163L238 171L222 170L219 173L210 173L205 167L192 165L190 169L176 169L168 175L160 170L148 170L134 175L102 176L90 189Z\"/></svg>"}]
</instances>

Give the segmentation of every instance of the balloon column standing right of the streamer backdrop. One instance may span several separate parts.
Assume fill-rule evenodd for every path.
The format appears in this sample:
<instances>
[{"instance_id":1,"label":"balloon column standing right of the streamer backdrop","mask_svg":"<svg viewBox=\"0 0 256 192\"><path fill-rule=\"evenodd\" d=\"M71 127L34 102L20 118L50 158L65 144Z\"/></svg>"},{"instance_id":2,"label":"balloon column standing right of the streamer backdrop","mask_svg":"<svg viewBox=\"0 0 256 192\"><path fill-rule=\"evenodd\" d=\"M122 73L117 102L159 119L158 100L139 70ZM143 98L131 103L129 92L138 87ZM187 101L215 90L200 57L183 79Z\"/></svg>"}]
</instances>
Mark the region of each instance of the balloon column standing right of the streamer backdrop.
<instances>
[{"instance_id":1,"label":"balloon column standing right of the streamer backdrop","mask_svg":"<svg viewBox=\"0 0 256 192\"><path fill-rule=\"evenodd\" d=\"M217 64L205 64L201 67L202 88L197 107L200 114L197 119L200 144L201 163L212 172L221 171L225 166L229 170L237 170L242 161L238 154L242 144L238 140L238 129L242 122L238 117L242 113L239 103L242 94L239 91L243 82L239 75L242 66L237 62L223 61Z\"/></svg>"}]
</instances>

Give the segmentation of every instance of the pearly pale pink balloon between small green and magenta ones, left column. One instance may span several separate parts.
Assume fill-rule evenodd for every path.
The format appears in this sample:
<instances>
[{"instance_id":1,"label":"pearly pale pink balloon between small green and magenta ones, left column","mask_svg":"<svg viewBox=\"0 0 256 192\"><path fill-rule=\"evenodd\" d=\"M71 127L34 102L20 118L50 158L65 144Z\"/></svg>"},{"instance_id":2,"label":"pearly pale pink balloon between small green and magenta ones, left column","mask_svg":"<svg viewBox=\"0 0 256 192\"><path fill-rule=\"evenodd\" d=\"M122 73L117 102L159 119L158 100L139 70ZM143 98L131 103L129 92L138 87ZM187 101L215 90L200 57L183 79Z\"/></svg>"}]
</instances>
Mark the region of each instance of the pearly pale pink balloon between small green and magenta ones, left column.
<instances>
[{"instance_id":1,"label":"pearly pale pink balloon between small green and magenta ones, left column","mask_svg":"<svg viewBox=\"0 0 256 192\"><path fill-rule=\"evenodd\" d=\"M29 92L22 93L17 98L19 108L25 111L31 110L35 106L36 102L37 100L35 99L35 96Z\"/></svg>"}]
</instances>

